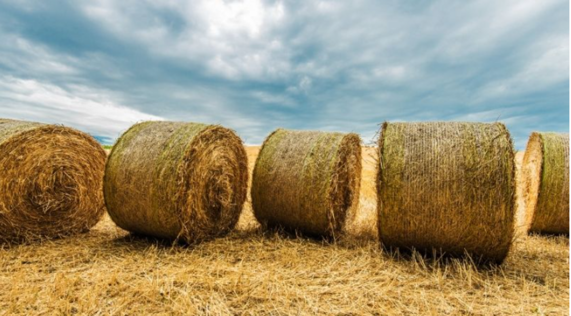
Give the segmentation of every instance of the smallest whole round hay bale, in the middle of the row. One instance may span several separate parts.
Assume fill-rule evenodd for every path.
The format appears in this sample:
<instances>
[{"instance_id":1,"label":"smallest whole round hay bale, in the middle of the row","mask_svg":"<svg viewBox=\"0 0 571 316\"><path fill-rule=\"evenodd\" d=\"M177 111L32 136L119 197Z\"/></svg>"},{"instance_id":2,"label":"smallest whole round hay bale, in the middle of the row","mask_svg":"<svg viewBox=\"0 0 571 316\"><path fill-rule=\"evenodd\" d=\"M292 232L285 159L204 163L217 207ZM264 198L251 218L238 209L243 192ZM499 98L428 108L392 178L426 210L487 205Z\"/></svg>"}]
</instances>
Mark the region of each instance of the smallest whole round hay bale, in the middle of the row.
<instances>
[{"instance_id":1,"label":"smallest whole round hay bale, in the middle of the row","mask_svg":"<svg viewBox=\"0 0 571 316\"><path fill-rule=\"evenodd\" d=\"M335 238L359 201L360 143L355 133L272 132L252 179L258 221Z\"/></svg>"}]
</instances>

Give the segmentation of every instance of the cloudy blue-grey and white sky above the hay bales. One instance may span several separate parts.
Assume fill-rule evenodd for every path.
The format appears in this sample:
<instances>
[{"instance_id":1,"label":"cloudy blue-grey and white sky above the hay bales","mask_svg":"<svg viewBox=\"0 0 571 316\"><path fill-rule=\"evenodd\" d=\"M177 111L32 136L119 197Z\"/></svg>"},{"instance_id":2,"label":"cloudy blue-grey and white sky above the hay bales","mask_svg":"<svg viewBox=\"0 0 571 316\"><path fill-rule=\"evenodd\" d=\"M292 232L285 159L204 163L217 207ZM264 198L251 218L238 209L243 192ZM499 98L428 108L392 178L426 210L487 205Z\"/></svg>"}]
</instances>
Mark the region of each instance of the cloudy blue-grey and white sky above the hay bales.
<instances>
[{"instance_id":1,"label":"cloudy blue-grey and white sky above the hay bales","mask_svg":"<svg viewBox=\"0 0 571 316\"><path fill-rule=\"evenodd\" d=\"M503 121L569 131L569 2L3 1L0 117L112 143L142 120L276 127Z\"/></svg>"}]
</instances>

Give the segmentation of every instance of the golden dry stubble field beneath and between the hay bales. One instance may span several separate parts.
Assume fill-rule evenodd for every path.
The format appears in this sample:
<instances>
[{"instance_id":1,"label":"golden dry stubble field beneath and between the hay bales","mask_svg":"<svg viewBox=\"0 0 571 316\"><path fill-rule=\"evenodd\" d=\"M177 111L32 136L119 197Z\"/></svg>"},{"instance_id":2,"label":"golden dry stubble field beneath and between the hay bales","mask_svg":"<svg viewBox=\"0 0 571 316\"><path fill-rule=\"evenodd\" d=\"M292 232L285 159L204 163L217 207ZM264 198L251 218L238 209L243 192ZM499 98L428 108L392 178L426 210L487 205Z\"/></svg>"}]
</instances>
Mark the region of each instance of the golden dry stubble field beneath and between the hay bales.
<instances>
[{"instance_id":1,"label":"golden dry stubble field beneath and between the hay bales","mask_svg":"<svg viewBox=\"0 0 571 316\"><path fill-rule=\"evenodd\" d=\"M250 164L258 149L249 148ZM258 229L184 247L108 217L90 233L0 249L0 314L569 314L568 237L520 236L501 266L386 253L365 149L349 236L324 244Z\"/></svg>"}]
</instances>

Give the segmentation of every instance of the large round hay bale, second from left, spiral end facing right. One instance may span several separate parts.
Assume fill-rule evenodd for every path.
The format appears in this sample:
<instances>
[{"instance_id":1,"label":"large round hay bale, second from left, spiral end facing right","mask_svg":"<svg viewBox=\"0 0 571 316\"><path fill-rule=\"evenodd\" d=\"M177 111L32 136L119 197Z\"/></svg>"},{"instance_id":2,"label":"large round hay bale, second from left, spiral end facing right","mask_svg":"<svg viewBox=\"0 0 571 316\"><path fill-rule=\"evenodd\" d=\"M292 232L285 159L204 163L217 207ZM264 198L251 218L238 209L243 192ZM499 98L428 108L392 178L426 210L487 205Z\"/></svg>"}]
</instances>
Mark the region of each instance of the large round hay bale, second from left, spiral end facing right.
<instances>
[{"instance_id":1,"label":"large round hay bale, second from left, spiral end facing right","mask_svg":"<svg viewBox=\"0 0 571 316\"><path fill-rule=\"evenodd\" d=\"M187 243L228 233L248 187L246 149L219 125L148 121L113 147L104 194L113 221L130 232Z\"/></svg>"}]
</instances>

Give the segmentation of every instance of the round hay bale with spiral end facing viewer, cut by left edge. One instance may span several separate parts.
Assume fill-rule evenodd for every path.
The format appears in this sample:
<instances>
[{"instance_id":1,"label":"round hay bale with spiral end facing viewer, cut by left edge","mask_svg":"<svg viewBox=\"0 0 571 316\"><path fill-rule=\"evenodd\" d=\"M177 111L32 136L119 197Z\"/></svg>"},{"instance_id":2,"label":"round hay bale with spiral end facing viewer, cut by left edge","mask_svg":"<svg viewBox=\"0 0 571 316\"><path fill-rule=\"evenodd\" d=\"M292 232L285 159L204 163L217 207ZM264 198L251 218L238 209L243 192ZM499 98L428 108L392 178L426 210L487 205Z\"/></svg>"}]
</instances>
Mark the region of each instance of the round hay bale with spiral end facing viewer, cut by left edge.
<instances>
[{"instance_id":1,"label":"round hay bale with spiral end facing viewer, cut by left edge","mask_svg":"<svg viewBox=\"0 0 571 316\"><path fill-rule=\"evenodd\" d=\"M85 232L105 212L106 154L86 133L0 119L0 240Z\"/></svg>"}]
</instances>

